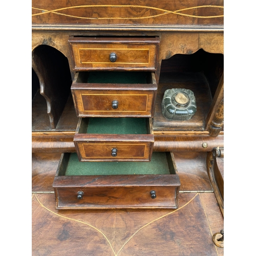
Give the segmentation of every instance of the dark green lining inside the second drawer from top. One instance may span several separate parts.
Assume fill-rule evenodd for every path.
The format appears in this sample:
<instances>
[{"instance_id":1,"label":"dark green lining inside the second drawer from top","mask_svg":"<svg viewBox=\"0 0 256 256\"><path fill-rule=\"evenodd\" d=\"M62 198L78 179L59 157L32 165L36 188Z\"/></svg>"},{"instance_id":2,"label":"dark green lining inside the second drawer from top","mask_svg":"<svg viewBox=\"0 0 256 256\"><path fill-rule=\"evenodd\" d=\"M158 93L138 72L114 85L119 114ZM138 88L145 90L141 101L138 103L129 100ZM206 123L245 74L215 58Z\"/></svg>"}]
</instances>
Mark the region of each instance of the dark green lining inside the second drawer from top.
<instances>
[{"instance_id":1,"label":"dark green lining inside the second drawer from top","mask_svg":"<svg viewBox=\"0 0 256 256\"><path fill-rule=\"evenodd\" d=\"M146 72L90 72L88 83L147 83Z\"/></svg>"}]
</instances>

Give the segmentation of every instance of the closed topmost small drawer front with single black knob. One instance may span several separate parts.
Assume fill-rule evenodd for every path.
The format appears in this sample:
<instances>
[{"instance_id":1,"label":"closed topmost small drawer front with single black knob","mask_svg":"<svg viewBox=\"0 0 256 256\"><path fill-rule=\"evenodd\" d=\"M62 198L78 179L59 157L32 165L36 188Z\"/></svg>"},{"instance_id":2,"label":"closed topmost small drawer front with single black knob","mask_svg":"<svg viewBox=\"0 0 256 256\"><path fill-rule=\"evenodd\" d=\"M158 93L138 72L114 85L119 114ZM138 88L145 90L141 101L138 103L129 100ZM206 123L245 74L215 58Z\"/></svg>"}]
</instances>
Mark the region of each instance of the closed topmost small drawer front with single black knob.
<instances>
[{"instance_id":1,"label":"closed topmost small drawer front with single black knob","mask_svg":"<svg viewBox=\"0 0 256 256\"><path fill-rule=\"evenodd\" d=\"M69 39L74 70L156 70L158 38Z\"/></svg>"}]
</instances>

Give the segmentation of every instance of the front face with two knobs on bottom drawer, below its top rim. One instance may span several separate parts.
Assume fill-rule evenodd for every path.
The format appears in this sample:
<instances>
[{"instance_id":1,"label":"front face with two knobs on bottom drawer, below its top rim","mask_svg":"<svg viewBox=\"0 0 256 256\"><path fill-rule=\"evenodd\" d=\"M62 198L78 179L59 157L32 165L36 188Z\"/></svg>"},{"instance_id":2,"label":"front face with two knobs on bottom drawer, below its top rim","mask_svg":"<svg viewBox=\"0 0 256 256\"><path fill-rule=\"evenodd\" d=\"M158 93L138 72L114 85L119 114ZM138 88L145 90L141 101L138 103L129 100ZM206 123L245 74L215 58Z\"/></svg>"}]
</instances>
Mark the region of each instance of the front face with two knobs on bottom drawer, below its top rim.
<instances>
[{"instance_id":1,"label":"front face with two knobs on bottom drawer, below its top rim","mask_svg":"<svg viewBox=\"0 0 256 256\"><path fill-rule=\"evenodd\" d=\"M57 209L65 208L177 208L178 186L58 188ZM82 192L82 193L79 193ZM151 191L156 192L152 198ZM81 199L77 196L81 195Z\"/></svg>"}]
</instances>

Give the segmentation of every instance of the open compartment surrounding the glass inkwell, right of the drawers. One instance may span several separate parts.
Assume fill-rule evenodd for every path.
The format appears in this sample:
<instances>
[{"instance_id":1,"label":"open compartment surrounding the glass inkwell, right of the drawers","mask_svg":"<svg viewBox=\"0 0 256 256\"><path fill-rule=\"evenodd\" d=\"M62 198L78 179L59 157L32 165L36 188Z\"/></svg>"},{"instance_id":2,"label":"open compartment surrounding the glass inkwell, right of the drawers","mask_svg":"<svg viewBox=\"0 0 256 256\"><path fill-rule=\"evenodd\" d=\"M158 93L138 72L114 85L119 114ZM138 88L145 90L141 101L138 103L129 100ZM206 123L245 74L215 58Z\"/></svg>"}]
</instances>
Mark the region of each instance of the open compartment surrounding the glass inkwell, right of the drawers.
<instances>
[{"instance_id":1,"label":"open compartment surrounding the glass inkwell, right of the drawers","mask_svg":"<svg viewBox=\"0 0 256 256\"><path fill-rule=\"evenodd\" d=\"M193 54L175 54L161 62L154 133L172 131L207 131L223 98L224 56L203 49ZM162 100L169 89L190 90L196 98L197 111L189 120L167 119L162 114Z\"/></svg>"}]
</instances>

